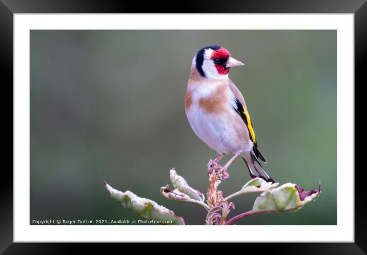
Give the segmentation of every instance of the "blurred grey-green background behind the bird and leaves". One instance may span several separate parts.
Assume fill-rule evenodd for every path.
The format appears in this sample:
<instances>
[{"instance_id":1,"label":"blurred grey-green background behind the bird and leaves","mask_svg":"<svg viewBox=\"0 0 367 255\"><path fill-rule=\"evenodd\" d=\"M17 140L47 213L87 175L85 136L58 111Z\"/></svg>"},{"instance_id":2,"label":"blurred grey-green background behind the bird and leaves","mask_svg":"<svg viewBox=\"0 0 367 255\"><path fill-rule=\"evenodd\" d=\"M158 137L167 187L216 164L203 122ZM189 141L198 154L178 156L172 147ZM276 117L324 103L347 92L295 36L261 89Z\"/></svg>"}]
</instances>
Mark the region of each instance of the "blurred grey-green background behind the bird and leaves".
<instances>
[{"instance_id":1,"label":"blurred grey-green background behind the bird and leaves","mask_svg":"<svg viewBox=\"0 0 367 255\"><path fill-rule=\"evenodd\" d=\"M206 193L206 164L216 152L187 121L191 61L207 45L245 63L231 79L246 99L263 165L278 182L322 194L297 213L259 214L243 225L337 224L336 30L31 30L30 219L140 219L107 193L155 200L204 224L192 203L162 197L176 167ZM229 159L223 159L225 163ZM249 179L237 158L226 195ZM230 216L250 210L259 194L234 199Z\"/></svg>"}]
</instances>

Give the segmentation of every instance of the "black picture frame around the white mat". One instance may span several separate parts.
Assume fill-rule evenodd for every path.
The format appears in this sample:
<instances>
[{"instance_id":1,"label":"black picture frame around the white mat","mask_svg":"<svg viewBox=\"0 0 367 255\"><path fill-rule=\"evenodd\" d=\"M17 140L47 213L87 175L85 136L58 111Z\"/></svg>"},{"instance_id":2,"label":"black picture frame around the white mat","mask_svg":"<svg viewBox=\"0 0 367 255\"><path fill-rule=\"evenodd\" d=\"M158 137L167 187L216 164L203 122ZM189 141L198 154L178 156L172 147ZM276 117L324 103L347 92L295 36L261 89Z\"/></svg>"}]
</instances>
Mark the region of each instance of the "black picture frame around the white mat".
<instances>
[{"instance_id":1,"label":"black picture frame around the white mat","mask_svg":"<svg viewBox=\"0 0 367 255\"><path fill-rule=\"evenodd\" d=\"M365 84L364 67L367 55L367 3L366 0L282 0L282 1L200 1L186 2L177 5L150 2L141 4L131 1L106 0L0 0L0 65L2 74L3 99L13 95L13 14L15 13L354 13L355 17L355 88ZM363 82L364 81L364 82ZM10 89L11 88L11 89ZM11 96L13 98L13 96ZM12 99L11 99L12 100ZM6 100L2 100L3 109L10 108ZM11 104L12 105L12 104ZM11 107L13 108L13 106ZM3 111L4 113L5 111ZM10 130L4 120L3 125ZM9 126L9 128L8 128ZM13 121L11 124L13 132ZM13 133L12 133L13 134ZM6 133L3 132L6 137ZM9 136L10 137L10 136ZM8 147L3 146L8 149ZM12 145L13 148L13 145ZM7 153L8 150L6 150ZM13 153L13 150L12 152ZM4 159L10 161L10 157ZM356 158L356 157L355 157ZM13 161L12 161L13 164ZM366 199L364 197L363 168L355 169L355 243L272 243L262 244L264 249L282 254L365 254L367 252L367 220ZM0 252L4 254L33 253L73 253L75 246L83 246L98 252L95 244L66 243L13 243L13 173L10 167L3 167L0 184ZM45 227L47 228L47 227ZM47 229L46 229L47 231ZM246 244L249 246L256 244ZM258 245L258 244L257 244ZM151 246L151 244L150 244ZM141 246L144 248L144 246ZM148 248L148 246L147 246ZM100 248L104 251L105 248ZM182 251L188 248L180 247Z\"/></svg>"}]
</instances>

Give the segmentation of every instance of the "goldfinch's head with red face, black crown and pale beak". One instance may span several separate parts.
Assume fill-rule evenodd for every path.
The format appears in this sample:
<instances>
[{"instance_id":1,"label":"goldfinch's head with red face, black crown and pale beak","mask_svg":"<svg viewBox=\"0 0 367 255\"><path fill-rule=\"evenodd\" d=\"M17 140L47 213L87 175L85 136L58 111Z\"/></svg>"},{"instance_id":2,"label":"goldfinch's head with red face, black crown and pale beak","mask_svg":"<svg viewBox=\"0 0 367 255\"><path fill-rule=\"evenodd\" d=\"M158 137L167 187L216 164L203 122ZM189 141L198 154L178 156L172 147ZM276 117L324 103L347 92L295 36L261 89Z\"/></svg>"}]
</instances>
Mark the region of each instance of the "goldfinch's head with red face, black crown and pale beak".
<instances>
[{"instance_id":1,"label":"goldfinch's head with red face, black crown and pale beak","mask_svg":"<svg viewBox=\"0 0 367 255\"><path fill-rule=\"evenodd\" d=\"M202 77L209 79L228 78L231 67L243 65L242 62L234 59L226 48L216 45L199 50L193 64Z\"/></svg>"}]
</instances>

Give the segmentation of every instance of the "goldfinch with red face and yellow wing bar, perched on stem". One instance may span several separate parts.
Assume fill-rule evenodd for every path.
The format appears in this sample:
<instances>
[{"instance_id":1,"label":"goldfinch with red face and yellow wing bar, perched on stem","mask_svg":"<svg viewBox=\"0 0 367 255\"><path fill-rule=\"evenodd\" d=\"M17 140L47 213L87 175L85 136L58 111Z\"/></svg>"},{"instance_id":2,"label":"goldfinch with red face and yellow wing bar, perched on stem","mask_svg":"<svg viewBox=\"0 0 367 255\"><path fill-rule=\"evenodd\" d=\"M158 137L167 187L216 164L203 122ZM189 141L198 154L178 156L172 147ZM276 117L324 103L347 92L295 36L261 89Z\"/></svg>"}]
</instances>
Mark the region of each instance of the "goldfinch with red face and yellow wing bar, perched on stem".
<instances>
[{"instance_id":1,"label":"goldfinch with red face and yellow wing bar, perched on stem","mask_svg":"<svg viewBox=\"0 0 367 255\"><path fill-rule=\"evenodd\" d=\"M214 164L232 154L221 166L223 171L241 156L251 178L275 183L259 162L267 163L258 149L244 97L229 78L232 67L243 65L224 47L210 45L200 49L191 63L185 96L186 116L195 135L219 154Z\"/></svg>"}]
</instances>

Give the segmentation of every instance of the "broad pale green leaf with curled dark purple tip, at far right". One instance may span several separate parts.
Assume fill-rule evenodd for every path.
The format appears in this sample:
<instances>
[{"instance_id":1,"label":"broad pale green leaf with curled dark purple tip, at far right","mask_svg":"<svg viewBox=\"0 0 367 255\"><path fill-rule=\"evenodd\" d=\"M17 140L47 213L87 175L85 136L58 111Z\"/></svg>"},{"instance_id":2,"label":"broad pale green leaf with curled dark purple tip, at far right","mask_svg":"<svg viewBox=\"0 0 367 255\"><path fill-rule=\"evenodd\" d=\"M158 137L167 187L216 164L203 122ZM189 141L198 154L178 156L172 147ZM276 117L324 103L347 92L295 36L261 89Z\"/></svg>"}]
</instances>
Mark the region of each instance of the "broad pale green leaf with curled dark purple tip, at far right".
<instances>
[{"instance_id":1,"label":"broad pale green leaf with curled dark purple tip, at far right","mask_svg":"<svg viewBox=\"0 0 367 255\"><path fill-rule=\"evenodd\" d=\"M304 191L297 184L286 183L280 187L269 189L255 200L252 212L297 211L305 204L314 201L321 193L319 189Z\"/></svg>"}]
</instances>

